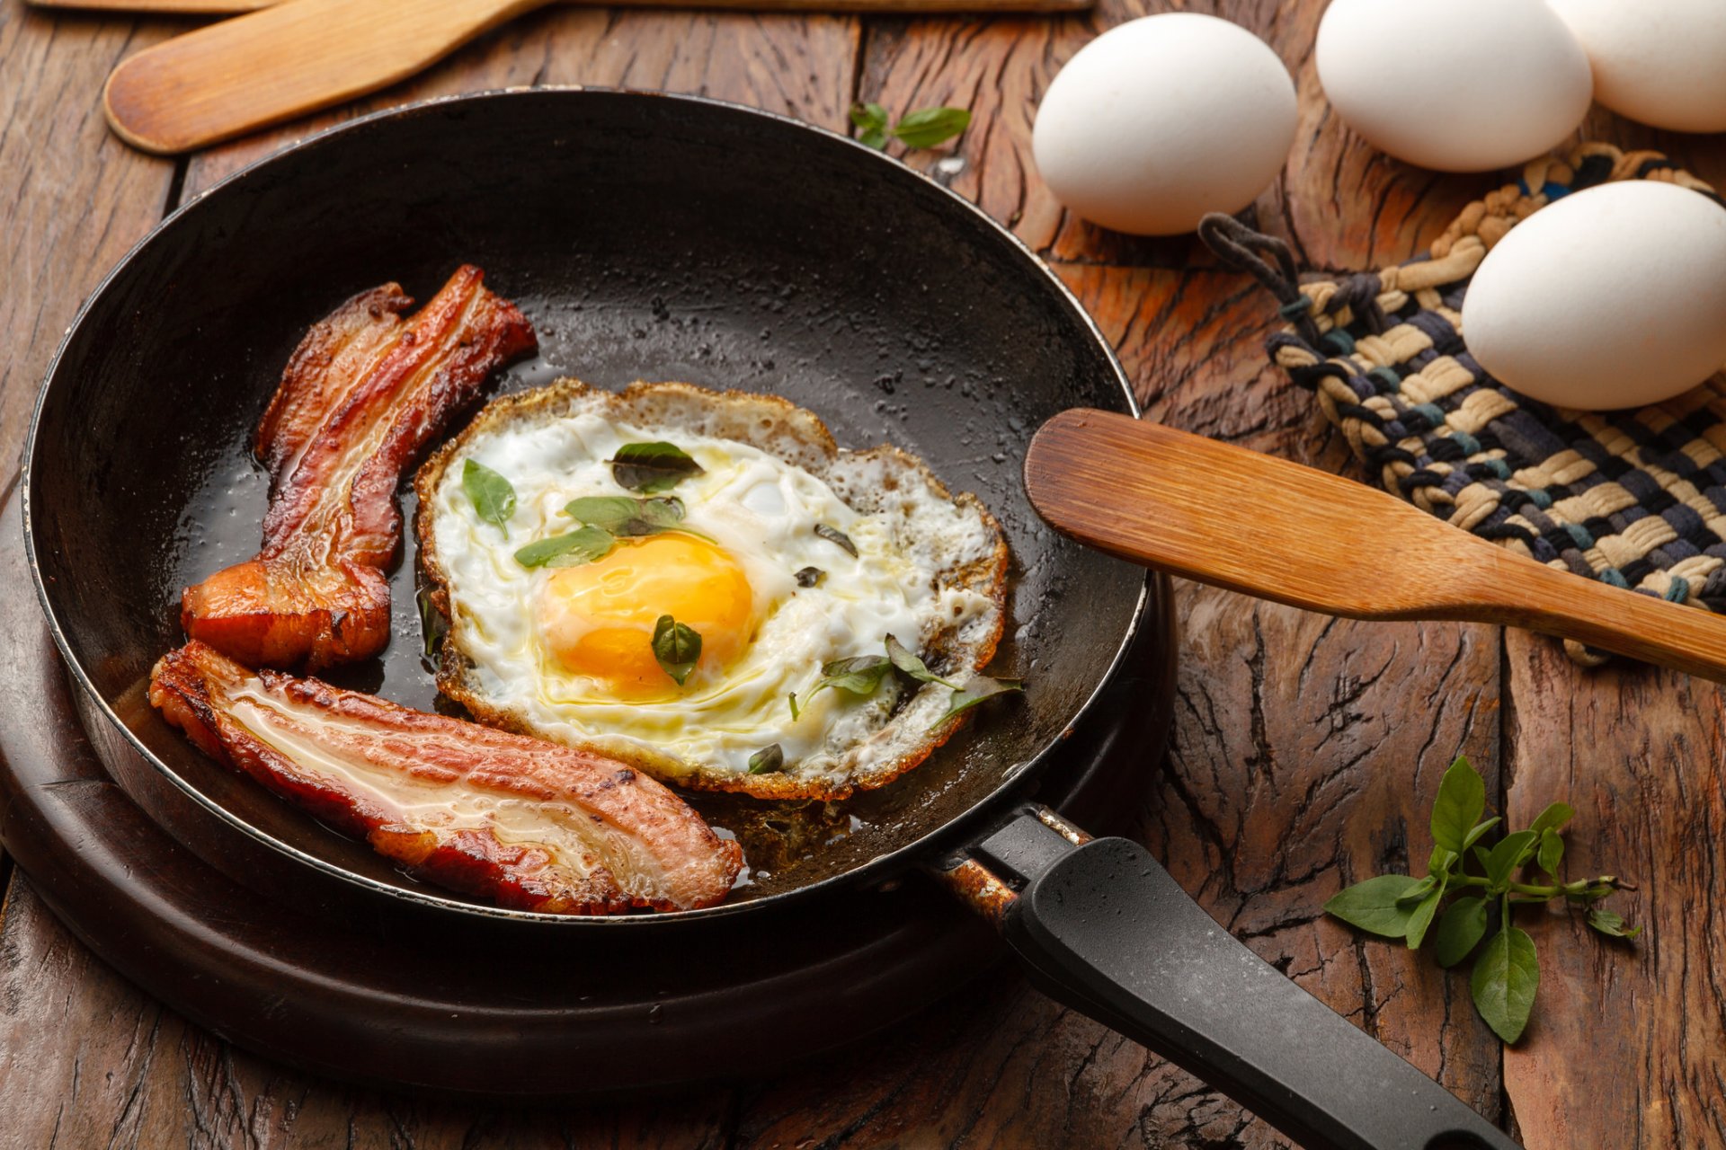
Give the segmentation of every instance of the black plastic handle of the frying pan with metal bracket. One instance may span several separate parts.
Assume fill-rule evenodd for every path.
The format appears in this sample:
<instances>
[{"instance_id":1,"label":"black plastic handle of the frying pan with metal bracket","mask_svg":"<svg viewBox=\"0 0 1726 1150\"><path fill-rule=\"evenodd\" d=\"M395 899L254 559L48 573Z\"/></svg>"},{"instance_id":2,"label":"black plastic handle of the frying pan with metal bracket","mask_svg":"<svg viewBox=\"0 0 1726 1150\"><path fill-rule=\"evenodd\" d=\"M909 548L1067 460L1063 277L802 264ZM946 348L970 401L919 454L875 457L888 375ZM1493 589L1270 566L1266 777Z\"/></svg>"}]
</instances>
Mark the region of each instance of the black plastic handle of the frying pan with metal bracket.
<instances>
[{"instance_id":1,"label":"black plastic handle of the frying pan with metal bracket","mask_svg":"<svg viewBox=\"0 0 1726 1150\"><path fill-rule=\"evenodd\" d=\"M1032 983L1144 1043L1312 1150L1517 1150L1448 1090L1291 983L1151 855L1025 807L977 843L963 893ZM956 872L949 872L951 876Z\"/></svg>"}]
</instances>

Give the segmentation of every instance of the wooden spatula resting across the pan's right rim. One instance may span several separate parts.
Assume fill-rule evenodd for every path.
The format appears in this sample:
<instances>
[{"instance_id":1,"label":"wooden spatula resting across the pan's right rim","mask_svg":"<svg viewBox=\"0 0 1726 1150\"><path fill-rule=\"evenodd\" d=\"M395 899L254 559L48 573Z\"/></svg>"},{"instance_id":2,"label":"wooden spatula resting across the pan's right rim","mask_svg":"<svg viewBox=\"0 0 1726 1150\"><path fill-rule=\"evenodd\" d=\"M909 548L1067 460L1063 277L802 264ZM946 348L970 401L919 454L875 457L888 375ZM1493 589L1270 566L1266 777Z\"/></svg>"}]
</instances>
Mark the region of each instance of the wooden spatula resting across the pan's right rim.
<instances>
[{"instance_id":1,"label":"wooden spatula resting across the pan's right rim","mask_svg":"<svg viewBox=\"0 0 1726 1150\"><path fill-rule=\"evenodd\" d=\"M1726 617L1514 555L1312 467L1115 412L1046 422L1030 503L1146 567L1351 619L1528 628L1726 681Z\"/></svg>"}]
</instances>

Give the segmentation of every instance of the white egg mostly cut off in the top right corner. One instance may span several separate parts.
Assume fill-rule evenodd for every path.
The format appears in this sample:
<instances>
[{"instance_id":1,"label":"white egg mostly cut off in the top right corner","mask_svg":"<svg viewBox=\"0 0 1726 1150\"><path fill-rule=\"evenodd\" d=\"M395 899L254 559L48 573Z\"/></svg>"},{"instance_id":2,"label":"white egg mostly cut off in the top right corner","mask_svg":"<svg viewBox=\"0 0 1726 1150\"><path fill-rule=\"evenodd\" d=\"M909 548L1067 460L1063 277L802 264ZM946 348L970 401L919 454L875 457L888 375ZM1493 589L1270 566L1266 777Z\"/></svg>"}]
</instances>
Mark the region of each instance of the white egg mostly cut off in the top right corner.
<instances>
[{"instance_id":1,"label":"white egg mostly cut off in the top right corner","mask_svg":"<svg viewBox=\"0 0 1726 1150\"><path fill-rule=\"evenodd\" d=\"M1655 128L1726 131L1723 0L1550 0L1595 69L1595 100Z\"/></svg>"}]
</instances>

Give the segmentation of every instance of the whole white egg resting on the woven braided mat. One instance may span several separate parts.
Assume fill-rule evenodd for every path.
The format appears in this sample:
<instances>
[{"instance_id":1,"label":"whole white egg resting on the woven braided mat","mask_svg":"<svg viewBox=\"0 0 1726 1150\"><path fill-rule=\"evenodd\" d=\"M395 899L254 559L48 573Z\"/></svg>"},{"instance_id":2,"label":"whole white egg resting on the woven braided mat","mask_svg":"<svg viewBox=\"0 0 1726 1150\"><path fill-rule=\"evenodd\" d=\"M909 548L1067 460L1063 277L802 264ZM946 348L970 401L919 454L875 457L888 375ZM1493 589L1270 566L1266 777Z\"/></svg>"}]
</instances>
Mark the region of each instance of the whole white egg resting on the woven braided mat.
<instances>
[{"instance_id":1,"label":"whole white egg resting on the woven braided mat","mask_svg":"<svg viewBox=\"0 0 1726 1150\"><path fill-rule=\"evenodd\" d=\"M1557 407L1659 403L1726 364L1726 209L1624 181L1534 212L1462 303L1476 362Z\"/></svg>"}]
</instances>

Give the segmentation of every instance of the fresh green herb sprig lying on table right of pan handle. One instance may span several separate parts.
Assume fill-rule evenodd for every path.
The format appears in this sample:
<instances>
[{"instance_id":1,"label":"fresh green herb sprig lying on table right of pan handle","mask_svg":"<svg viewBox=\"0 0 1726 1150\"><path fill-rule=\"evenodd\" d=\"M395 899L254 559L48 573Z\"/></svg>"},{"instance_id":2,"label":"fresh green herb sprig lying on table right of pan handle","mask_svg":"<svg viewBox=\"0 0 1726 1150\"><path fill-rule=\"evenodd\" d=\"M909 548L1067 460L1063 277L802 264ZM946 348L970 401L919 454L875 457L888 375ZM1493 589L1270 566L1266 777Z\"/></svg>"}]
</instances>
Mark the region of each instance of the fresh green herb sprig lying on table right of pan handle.
<instances>
[{"instance_id":1,"label":"fresh green herb sprig lying on table right of pan handle","mask_svg":"<svg viewBox=\"0 0 1726 1150\"><path fill-rule=\"evenodd\" d=\"M1565 883L1559 874L1564 862L1562 828L1576 814L1567 803L1552 803L1526 829L1502 836L1491 848L1481 840L1500 819L1481 819L1484 812L1486 783L1465 757L1458 757L1445 771L1433 803L1433 853L1426 876L1379 874L1338 891L1324 909L1372 934L1402 938L1410 950L1431 936L1434 957L1443 967L1476 955L1469 976L1474 1009L1498 1038L1514 1043L1528 1026L1534 991L1540 990L1534 940L1510 922L1514 907L1564 898L1586 909L1588 926L1600 934L1636 938L1641 928L1626 928L1619 914L1593 905L1626 888L1616 876ZM1471 862L1477 872L1469 871ZM1550 881L1521 881L1519 874L1529 864ZM1446 895L1453 898L1439 914Z\"/></svg>"}]
</instances>

